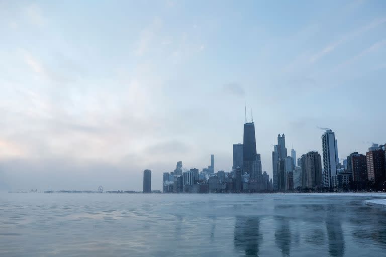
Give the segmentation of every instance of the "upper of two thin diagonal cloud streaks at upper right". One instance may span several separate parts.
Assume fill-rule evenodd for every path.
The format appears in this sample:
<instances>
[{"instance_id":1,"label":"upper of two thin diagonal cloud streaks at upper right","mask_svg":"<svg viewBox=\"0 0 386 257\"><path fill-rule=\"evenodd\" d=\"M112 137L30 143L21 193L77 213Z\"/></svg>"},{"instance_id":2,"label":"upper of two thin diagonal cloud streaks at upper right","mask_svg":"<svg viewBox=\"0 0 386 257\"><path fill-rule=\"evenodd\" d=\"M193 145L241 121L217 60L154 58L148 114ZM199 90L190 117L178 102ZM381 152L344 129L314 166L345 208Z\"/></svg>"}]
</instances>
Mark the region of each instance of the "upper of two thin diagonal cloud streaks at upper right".
<instances>
[{"instance_id":1,"label":"upper of two thin diagonal cloud streaks at upper right","mask_svg":"<svg viewBox=\"0 0 386 257\"><path fill-rule=\"evenodd\" d=\"M374 28L378 27L379 25L382 25L385 22L386 22L386 17L381 17L379 19L373 20L371 23L366 24L365 26L362 26L362 27L360 27L360 28L350 32L350 33L347 33L347 34L343 35L339 40L328 44L320 52L315 53L314 55L312 55L311 58L310 58L310 63L317 62L319 59L321 59L325 55L331 53L338 46L346 43L348 40L350 40L350 39L352 39L354 37L360 36L363 33L367 32L367 31L369 31L371 29L374 29Z\"/></svg>"}]
</instances>

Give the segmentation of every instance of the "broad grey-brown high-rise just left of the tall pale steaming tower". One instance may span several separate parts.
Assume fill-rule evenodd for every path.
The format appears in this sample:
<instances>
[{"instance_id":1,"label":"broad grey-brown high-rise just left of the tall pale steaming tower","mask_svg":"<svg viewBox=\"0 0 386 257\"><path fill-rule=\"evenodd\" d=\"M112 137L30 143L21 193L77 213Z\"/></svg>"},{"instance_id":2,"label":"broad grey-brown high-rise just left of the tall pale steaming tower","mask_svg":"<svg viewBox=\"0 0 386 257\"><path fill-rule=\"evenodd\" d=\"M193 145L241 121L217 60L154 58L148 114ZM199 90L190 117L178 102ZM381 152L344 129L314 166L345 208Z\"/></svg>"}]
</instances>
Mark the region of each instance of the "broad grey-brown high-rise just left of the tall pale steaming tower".
<instances>
[{"instance_id":1,"label":"broad grey-brown high-rise just left of the tall pale steaming tower","mask_svg":"<svg viewBox=\"0 0 386 257\"><path fill-rule=\"evenodd\" d=\"M304 188L314 188L323 185L322 157L318 152L308 152L303 155L302 174L304 175Z\"/></svg>"}]
</instances>

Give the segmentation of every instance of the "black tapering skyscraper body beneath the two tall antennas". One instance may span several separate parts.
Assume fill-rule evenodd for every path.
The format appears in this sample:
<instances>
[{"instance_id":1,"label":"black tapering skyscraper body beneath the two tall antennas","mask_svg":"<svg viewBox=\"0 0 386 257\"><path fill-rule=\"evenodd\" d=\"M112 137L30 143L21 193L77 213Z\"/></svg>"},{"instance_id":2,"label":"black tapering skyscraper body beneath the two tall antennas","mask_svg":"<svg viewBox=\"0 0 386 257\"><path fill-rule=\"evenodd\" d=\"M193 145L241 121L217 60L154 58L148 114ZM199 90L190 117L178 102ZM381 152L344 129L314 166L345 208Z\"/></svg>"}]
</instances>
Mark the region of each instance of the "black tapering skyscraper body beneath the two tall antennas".
<instances>
[{"instance_id":1,"label":"black tapering skyscraper body beneath the two tall antennas","mask_svg":"<svg viewBox=\"0 0 386 257\"><path fill-rule=\"evenodd\" d=\"M243 174L252 174L253 167L256 167L256 137L253 118L251 122L245 119L243 139Z\"/></svg>"}]
</instances>

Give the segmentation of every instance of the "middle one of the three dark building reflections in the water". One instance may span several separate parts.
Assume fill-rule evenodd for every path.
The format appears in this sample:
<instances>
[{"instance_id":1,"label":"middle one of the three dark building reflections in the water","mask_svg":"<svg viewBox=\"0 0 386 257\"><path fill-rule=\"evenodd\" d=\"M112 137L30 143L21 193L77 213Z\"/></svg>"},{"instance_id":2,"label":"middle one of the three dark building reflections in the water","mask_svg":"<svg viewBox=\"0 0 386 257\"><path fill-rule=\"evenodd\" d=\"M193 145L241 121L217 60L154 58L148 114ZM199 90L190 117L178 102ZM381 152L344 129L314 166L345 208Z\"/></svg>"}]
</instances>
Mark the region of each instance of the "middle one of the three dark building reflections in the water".
<instances>
[{"instance_id":1,"label":"middle one of the three dark building reflections in the water","mask_svg":"<svg viewBox=\"0 0 386 257\"><path fill-rule=\"evenodd\" d=\"M276 217L275 243L282 256L289 256L292 234L289 230L289 220L286 217Z\"/></svg>"}]
</instances>

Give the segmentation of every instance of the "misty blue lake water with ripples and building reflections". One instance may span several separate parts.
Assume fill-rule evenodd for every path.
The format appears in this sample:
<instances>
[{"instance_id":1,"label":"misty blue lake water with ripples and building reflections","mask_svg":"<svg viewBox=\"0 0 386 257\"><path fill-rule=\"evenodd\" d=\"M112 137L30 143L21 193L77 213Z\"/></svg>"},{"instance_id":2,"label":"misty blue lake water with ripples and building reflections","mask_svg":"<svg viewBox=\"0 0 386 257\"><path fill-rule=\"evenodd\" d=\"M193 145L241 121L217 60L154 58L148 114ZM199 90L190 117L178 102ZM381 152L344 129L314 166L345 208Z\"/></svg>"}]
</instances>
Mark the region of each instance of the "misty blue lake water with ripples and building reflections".
<instances>
[{"instance_id":1,"label":"misty blue lake water with ripples and building reflections","mask_svg":"<svg viewBox=\"0 0 386 257\"><path fill-rule=\"evenodd\" d=\"M3 193L0 256L386 256L374 198Z\"/></svg>"}]
</instances>

